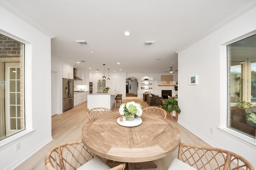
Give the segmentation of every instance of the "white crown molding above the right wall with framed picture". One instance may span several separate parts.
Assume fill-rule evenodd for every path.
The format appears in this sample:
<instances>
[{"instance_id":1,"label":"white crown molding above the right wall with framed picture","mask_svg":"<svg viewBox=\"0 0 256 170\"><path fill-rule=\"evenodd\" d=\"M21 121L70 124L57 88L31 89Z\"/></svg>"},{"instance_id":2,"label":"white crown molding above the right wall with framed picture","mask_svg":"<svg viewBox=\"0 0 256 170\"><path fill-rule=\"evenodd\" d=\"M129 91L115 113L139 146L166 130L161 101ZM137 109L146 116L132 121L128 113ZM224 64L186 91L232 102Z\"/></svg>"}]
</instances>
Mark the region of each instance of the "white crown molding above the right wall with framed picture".
<instances>
[{"instance_id":1,"label":"white crown molding above the right wall with framed picture","mask_svg":"<svg viewBox=\"0 0 256 170\"><path fill-rule=\"evenodd\" d=\"M228 16L227 18L225 18L224 20L220 21L218 24L216 24L214 27L212 27L211 29L209 29L208 31L206 31L205 33L202 33L202 35L200 35L197 39L195 39L194 41L191 41L190 43L188 43L188 45L182 47L181 49L179 49L178 51L176 51L176 53L179 53L181 51L183 51L184 49L190 47L191 45L193 45L194 43L198 42L199 40L203 39L204 37L206 37L207 35L210 35L211 33L217 31L218 29L220 29L221 27L223 27L224 25L230 23L231 21L235 20L236 18L238 18L239 16L242 16L242 14L250 11L252 8L256 7L256 0L252 0L250 2L248 2L246 5L244 5L242 8L238 9L236 12L232 13L230 16Z\"/></svg>"}]
</instances>

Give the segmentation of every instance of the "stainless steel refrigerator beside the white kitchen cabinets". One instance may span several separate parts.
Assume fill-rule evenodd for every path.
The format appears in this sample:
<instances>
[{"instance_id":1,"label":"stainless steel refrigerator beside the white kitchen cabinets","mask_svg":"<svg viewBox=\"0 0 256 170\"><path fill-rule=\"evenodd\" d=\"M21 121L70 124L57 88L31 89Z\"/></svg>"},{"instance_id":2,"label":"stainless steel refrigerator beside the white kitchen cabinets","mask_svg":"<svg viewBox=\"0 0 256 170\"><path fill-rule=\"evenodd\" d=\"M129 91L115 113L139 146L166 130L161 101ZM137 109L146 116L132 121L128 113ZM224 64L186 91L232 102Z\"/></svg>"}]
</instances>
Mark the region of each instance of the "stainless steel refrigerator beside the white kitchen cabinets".
<instances>
[{"instance_id":1,"label":"stainless steel refrigerator beside the white kitchen cabinets","mask_svg":"<svg viewBox=\"0 0 256 170\"><path fill-rule=\"evenodd\" d=\"M74 80L63 78L63 112L74 107Z\"/></svg>"}]
</instances>

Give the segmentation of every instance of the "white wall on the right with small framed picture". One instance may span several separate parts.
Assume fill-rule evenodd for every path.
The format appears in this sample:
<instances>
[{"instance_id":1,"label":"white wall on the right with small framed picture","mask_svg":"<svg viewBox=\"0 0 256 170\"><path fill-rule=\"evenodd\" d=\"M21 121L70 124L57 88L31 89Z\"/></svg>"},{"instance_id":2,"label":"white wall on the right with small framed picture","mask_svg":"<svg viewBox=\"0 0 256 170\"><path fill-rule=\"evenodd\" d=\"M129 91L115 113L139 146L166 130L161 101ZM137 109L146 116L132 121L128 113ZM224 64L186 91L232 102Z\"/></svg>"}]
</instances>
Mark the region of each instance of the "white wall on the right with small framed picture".
<instances>
[{"instance_id":1,"label":"white wall on the right with small framed picture","mask_svg":"<svg viewBox=\"0 0 256 170\"><path fill-rule=\"evenodd\" d=\"M178 123L214 147L235 152L256 167L255 139L224 133L227 115L226 44L256 29L256 8L178 53ZM189 76L198 75L198 85ZM219 128L221 127L221 128ZM213 128L213 134L210 133ZM222 131L223 130L223 131ZM249 139L246 143L244 139Z\"/></svg>"}]
</instances>

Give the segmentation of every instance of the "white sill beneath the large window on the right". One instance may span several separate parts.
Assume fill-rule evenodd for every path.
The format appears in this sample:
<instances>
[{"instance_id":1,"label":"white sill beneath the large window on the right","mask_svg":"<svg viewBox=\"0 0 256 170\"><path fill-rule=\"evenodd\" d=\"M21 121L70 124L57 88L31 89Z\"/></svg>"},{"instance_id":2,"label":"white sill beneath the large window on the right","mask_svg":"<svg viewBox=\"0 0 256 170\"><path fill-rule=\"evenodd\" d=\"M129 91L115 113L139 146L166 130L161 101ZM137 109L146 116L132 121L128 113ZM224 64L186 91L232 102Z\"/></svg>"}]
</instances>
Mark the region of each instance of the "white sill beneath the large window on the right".
<instances>
[{"instance_id":1,"label":"white sill beneath the large window on the right","mask_svg":"<svg viewBox=\"0 0 256 170\"><path fill-rule=\"evenodd\" d=\"M256 149L256 139L252 137L249 137L227 127L218 127L218 131Z\"/></svg>"}]
</instances>

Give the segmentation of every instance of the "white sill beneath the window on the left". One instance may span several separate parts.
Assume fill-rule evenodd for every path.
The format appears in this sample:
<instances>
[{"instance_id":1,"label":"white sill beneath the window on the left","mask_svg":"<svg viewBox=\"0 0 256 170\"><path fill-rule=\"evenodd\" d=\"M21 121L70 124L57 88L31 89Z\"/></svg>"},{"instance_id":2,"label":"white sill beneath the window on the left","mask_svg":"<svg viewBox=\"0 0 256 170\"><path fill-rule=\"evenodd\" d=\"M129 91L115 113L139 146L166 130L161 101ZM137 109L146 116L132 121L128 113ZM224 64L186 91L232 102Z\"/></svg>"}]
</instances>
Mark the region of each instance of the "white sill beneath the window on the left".
<instances>
[{"instance_id":1,"label":"white sill beneath the window on the left","mask_svg":"<svg viewBox=\"0 0 256 170\"><path fill-rule=\"evenodd\" d=\"M9 147L10 145L13 145L14 143L32 135L36 130L24 130L19 133L16 133L10 137L7 137L6 139L2 139L0 141L0 150L5 149Z\"/></svg>"}]
</instances>

